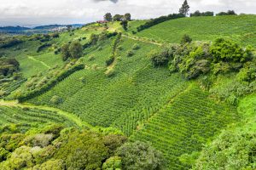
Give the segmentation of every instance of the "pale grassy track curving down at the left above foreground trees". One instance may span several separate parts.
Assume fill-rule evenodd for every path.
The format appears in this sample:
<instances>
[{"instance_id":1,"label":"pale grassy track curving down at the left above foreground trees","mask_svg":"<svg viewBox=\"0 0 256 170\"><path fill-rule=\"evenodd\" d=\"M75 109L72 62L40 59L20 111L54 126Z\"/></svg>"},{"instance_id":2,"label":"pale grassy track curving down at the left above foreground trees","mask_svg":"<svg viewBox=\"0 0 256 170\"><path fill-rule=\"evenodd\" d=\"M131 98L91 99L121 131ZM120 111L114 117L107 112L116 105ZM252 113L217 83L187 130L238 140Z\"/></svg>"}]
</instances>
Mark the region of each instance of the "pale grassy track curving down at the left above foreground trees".
<instances>
[{"instance_id":1,"label":"pale grassy track curving down at the left above foreground trees","mask_svg":"<svg viewBox=\"0 0 256 170\"><path fill-rule=\"evenodd\" d=\"M57 109L55 107L49 107L49 106L44 106L44 105L32 105L32 104L27 104L23 103L20 104L16 100L12 101L5 101L5 100L0 100L0 106L9 106L9 107L21 107L21 108L32 108L32 109L39 109L39 110L44 110L44 111L55 111L61 116L66 116L67 119L75 122L79 127L89 127L93 128L89 123L83 122L79 116L74 115L73 113L69 113L67 111L61 111L60 109Z\"/></svg>"}]
</instances>

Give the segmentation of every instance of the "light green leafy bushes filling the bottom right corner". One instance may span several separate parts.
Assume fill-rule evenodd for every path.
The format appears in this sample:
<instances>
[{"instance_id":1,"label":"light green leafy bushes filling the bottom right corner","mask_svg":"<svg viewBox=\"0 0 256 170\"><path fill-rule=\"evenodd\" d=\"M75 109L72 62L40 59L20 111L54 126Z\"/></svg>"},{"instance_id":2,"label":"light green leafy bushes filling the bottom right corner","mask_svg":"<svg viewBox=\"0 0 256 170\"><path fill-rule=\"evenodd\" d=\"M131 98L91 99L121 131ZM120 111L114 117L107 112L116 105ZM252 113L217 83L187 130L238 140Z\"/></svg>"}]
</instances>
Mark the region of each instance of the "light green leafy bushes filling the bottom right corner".
<instances>
[{"instance_id":1,"label":"light green leafy bushes filling the bottom right corner","mask_svg":"<svg viewBox=\"0 0 256 170\"><path fill-rule=\"evenodd\" d=\"M193 169L255 169L255 147L253 130L225 130L201 151Z\"/></svg>"}]
</instances>

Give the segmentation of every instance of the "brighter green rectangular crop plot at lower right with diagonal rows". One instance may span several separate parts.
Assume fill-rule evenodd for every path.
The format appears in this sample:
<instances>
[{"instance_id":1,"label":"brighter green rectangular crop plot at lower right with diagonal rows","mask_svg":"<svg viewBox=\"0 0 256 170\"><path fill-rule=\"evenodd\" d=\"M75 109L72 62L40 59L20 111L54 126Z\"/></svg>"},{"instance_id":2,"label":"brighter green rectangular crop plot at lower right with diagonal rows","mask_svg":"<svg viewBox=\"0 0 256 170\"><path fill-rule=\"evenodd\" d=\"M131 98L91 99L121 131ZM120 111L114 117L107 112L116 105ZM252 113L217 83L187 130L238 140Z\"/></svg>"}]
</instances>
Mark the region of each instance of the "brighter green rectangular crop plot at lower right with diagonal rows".
<instances>
[{"instance_id":1,"label":"brighter green rectangular crop plot at lower right with diagonal rows","mask_svg":"<svg viewBox=\"0 0 256 170\"><path fill-rule=\"evenodd\" d=\"M131 139L151 142L161 150L168 169L189 169L179 157L201 150L207 139L236 120L236 110L229 108L214 103L199 88L188 88L131 135Z\"/></svg>"}]
</instances>

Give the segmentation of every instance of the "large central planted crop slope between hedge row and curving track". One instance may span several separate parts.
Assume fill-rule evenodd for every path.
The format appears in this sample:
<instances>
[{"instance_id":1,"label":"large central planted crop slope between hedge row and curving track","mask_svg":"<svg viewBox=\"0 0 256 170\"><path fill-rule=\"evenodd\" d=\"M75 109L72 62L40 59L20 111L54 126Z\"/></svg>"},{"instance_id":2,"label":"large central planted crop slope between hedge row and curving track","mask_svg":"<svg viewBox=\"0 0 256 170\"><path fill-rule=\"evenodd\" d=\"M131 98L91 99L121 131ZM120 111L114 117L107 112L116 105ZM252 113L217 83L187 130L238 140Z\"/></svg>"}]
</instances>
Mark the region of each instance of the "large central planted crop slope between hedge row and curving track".
<instances>
[{"instance_id":1,"label":"large central planted crop slope between hedge row and curving track","mask_svg":"<svg viewBox=\"0 0 256 170\"><path fill-rule=\"evenodd\" d=\"M127 57L134 43L140 48ZM113 77L105 75L105 60L110 53L107 42L101 51L87 54L86 70L74 73L30 102L73 112L93 126L118 127L125 134L131 134L140 122L183 90L186 81L178 74L170 75L166 68L151 67L145 53L157 46L125 38L121 47L116 63L111 66ZM55 95L63 99L63 103L52 104L50 100Z\"/></svg>"}]
</instances>

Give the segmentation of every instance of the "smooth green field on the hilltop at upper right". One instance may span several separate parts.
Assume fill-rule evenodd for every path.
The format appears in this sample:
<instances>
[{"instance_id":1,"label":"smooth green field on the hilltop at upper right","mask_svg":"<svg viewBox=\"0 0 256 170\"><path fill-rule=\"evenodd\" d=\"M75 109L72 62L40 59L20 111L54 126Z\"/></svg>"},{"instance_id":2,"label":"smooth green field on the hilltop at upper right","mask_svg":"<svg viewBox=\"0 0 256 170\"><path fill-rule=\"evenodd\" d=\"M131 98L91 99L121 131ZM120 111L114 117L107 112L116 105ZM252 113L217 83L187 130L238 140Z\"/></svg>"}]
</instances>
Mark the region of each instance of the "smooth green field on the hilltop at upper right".
<instances>
[{"instance_id":1,"label":"smooth green field on the hilltop at upper right","mask_svg":"<svg viewBox=\"0 0 256 170\"><path fill-rule=\"evenodd\" d=\"M256 47L256 15L192 17L169 20L138 32L139 37L148 37L160 42L180 42L188 34L195 41L212 41L228 37L244 45Z\"/></svg>"}]
</instances>

